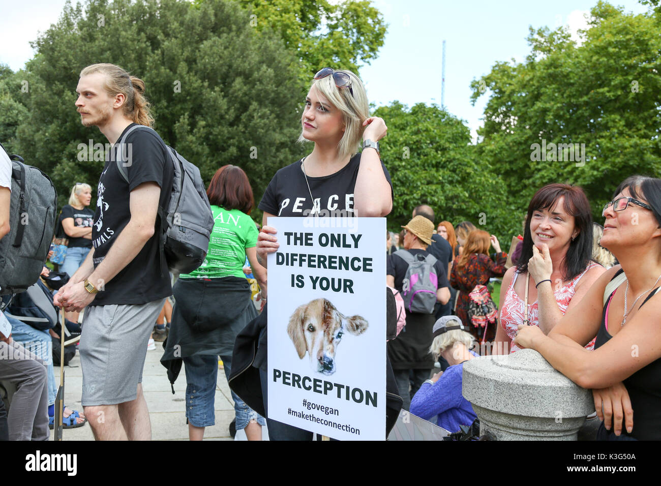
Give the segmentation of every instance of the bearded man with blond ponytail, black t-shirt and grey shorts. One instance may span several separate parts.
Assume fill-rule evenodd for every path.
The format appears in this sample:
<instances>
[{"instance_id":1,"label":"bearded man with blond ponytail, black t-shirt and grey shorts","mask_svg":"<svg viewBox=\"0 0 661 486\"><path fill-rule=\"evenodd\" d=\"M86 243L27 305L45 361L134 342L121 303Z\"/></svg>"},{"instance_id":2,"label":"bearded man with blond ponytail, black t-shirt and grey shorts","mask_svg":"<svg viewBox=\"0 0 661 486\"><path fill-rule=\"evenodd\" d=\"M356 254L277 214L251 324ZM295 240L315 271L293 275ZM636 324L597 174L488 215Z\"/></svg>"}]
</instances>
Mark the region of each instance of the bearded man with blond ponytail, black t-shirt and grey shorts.
<instances>
[{"instance_id":1,"label":"bearded man with blond ponytail, black t-shirt and grey shorts","mask_svg":"<svg viewBox=\"0 0 661 486\"><path fill-rule=\"evenodd\" d=\"M157 214L167 208L173 166L156 132L132 130L153 123L141 79L93 64L81 71L76 92L81 123L97 126L113 148L98 181L93 247L54 303L66 311L87 307L82 403L95 438L149 440L142 368L153 323L172 294Z\"/></svg>"}]
</instances>

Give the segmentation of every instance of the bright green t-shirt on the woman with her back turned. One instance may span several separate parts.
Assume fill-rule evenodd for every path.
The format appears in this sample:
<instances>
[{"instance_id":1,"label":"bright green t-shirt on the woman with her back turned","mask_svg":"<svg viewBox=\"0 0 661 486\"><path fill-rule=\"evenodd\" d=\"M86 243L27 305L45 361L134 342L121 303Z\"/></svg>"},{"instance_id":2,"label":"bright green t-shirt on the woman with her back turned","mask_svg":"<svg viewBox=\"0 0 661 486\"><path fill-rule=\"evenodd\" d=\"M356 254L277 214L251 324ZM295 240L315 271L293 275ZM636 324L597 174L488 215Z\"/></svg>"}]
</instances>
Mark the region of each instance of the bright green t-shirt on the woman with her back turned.
<instances>
[{"instance_id":1,"label":"bright green t-shirt on the woman with her back turned","mask_svg":"<svg viewBox=\"0 0 661 486\"><path fill-rule=\"evenodd\" d=\"M207 257L200 268L179 278L245 278L242 270L246 261L245 249L257 245L257 227L250 216L237 209L226 210L212 205L211 210L214 229Z\"/></svg>"}]
</instances>

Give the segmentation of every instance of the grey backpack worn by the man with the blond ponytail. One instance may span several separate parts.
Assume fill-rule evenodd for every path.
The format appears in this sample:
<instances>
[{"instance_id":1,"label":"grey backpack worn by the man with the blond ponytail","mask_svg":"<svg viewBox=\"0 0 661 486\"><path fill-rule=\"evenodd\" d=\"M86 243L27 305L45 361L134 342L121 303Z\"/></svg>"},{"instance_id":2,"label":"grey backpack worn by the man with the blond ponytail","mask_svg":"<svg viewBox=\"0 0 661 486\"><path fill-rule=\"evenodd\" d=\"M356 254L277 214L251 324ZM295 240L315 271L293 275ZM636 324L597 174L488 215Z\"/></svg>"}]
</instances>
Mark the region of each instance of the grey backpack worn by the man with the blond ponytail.
<instances>
[{"instance_id":1,"label":"grey backpack worn by the man with the blond ponytail","mask_svg":"<svg viewBox=\"0 0 661 486\"><path fill-rule=\"evenodd\" d=\"M118 153L124 154L124 142L134 130L149 130L145 125L134 125L126 131L119 142ZM167 146L175 169L173 186L167 210L159 206L161 221L161 245L171 272L190 273L206 259L211 231L214 229L214 214L206 195L200 169ZM117 157L117 169L126 182L122 156Z\"/></svg>"}]
</instances>

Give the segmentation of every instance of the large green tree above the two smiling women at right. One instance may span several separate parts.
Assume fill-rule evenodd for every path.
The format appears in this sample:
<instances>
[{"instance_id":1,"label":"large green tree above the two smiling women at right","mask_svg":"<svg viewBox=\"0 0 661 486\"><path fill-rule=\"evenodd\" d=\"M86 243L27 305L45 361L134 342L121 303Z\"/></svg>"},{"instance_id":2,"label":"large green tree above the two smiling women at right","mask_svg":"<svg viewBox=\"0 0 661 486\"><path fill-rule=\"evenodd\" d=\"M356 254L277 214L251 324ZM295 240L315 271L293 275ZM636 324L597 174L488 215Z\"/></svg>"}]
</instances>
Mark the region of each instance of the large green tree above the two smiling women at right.
<instances>
[{"instance_id":1,"label":"large green tree above the two smiling women at right","mask_svg":"<svg viewBox=\"0 0 661 486\"><path fill-rule=\"evenodd\" d=\"M531 28L524 63L496 63L471 85L473 102L485 87L491 91L479 157L500 171L518 210L544 184L572 182L600 219L625 177L661 176L658 24L651 14L625 14L603 2L591 15L582 45L564 28ZM543 140L546 160L539 160L533 144ZM571 153L550 143L584 144L585 162L576 153L568 161Z\"/></svg>"}]
</instances>

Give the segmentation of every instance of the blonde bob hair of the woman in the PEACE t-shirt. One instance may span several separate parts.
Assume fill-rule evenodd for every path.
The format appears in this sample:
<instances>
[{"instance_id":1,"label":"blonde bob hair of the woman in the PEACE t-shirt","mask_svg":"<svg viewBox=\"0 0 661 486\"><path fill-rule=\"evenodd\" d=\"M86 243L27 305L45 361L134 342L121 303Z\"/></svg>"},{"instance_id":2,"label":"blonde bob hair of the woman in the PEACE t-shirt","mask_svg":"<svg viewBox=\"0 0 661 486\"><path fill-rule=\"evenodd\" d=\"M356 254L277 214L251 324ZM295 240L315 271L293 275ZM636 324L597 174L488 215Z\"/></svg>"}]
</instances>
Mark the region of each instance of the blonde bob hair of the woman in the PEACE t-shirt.
<instances>
[{"instance_id":1,"label":"blonde bob hair of the woman in the PEACE t-shirt","mask_svg":"<svg viewBox=\"0 0 661 486\"><path fill-rule=\"evenodd\" d=\"M354 92L352 96L349 88L338 88L332 75L315 79L310 85L317 89L317 93L325 97L335 108L342 112L342 122L344 122L344 135L337 145L338 157L345 159L354 155L358 151L358 143L362 140L365 127L363 122L369 118L369 102L365 87L360 78L351 71L342 69L342 72L349 75L351 78L351 89ZM298 142L305 142L307 139L301 136Z\"/></svg>"}]
</instances>

